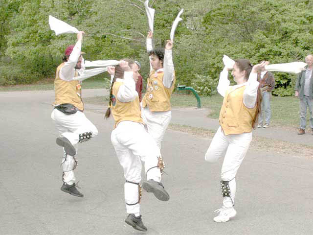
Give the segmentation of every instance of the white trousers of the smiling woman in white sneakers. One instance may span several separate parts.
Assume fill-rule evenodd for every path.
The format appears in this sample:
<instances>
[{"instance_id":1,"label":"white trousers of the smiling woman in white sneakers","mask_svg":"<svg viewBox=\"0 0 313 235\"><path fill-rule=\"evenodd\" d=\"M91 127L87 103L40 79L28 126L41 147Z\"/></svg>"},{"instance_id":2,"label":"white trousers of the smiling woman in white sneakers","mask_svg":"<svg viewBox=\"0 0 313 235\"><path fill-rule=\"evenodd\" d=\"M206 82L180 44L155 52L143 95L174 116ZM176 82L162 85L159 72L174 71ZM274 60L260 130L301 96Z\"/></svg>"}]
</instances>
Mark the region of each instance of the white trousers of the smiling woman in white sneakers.
<instances>
[{"instance_id":1,"label":"white trousers of the smiling woman in white sneakers","mask_svg":"<svg viewBox=\"0 0 313 235\"><path fill-rule=\"evenodd\" d=\"M219 127L206 151L204 159L210 163L215 163L224 156L221 178L223 181L229 181L231 192L231 198L224 197L223 206L225 208L234 205L236 195L235 177L246 156L251 140L252 132L225 136L222 128Z\"/></svg>"}]
</instances>

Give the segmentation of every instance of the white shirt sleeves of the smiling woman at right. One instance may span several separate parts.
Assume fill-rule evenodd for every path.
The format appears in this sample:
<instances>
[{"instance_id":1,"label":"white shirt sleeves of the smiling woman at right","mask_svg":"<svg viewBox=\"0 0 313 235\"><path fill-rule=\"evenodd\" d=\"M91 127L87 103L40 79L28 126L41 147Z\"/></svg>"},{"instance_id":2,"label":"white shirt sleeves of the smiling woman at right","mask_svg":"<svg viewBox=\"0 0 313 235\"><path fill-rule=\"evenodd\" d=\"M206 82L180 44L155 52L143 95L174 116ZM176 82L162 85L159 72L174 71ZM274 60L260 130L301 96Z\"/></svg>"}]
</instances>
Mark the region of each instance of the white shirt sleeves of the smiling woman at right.
<instances>
[{"instance_id":1,"label":"white shirt sleeves of the smiling woman at right","mask_svg":"<svg viewBox=\"0 0 313 235\"><path fill-rule=\"evenodd\" d=\"M224 97L228 89L231 89L233 91L239 87L246 86L246 90L244 91L243 94L244 105L249 109L252 109L255 106L259 88L259 82L257 81L257 73L251 72L248 81L240 85L229 86L229 84L230 81L228 80L228 71L223 70L220 74L220 80L217 86L218 93Z\"/></svg>"}]
</instances>

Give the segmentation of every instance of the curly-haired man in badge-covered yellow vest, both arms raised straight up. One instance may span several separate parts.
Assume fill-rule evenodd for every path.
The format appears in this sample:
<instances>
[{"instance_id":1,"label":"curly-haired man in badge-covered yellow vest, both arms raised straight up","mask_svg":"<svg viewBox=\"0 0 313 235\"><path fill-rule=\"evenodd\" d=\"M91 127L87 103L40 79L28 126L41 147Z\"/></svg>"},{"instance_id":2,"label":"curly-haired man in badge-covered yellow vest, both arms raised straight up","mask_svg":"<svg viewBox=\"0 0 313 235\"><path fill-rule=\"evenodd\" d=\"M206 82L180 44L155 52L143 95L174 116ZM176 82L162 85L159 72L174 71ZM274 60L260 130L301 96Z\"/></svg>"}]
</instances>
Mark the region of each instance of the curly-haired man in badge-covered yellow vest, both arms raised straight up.
<instances>
[{"instance_id":1,"label":"curly-haired man in badge-covered yellow vest, both arms raised straight up","mask_svg":"<svg viewBox=\"0 0 313 235\"><path fill-rule=\"evenodd\" d=\"M175 87L175 71L172 59L173 42L167 41L165 51L152 47L153 33L147 36L147 51L150 55L151 71L147 80L147 91L141 101L141 115L148 132L159 149L164 133L171 121L171 94Z\"/></svg>"}]
</instances>

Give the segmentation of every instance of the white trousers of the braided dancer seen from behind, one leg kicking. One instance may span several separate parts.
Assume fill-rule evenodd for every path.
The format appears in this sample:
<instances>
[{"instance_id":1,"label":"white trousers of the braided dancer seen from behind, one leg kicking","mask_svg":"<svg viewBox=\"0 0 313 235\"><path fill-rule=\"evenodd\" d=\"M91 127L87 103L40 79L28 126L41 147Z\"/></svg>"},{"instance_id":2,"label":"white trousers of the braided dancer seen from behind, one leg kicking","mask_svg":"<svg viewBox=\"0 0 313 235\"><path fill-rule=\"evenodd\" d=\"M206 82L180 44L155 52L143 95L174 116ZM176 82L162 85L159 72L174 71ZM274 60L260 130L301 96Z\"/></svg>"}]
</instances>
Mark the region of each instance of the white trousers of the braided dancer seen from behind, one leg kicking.
<instances>
[{"instance_id":1,"label":"white trousers of the braided dancer seen from behind, one leg kicking","mask_svg":"<svg viewBox=\"0 0 313 235\"><path fill-rule=\"evenodd\" d=\"M159 168L155 167L158 163L157 158L161 155L160 150L156 146L156 142L145 130L143 124L133 121L120 122L112 131L111 141L118 161L123 167L126 181L140 183L141 161L143 161L147 180L153 179L156 182L160 182L161 172ZM137 185L127 182L124 184L125 202L127 204L135 204L126 204L127 213L139 215L138 193Z\"/></svg>"}]
</instances>

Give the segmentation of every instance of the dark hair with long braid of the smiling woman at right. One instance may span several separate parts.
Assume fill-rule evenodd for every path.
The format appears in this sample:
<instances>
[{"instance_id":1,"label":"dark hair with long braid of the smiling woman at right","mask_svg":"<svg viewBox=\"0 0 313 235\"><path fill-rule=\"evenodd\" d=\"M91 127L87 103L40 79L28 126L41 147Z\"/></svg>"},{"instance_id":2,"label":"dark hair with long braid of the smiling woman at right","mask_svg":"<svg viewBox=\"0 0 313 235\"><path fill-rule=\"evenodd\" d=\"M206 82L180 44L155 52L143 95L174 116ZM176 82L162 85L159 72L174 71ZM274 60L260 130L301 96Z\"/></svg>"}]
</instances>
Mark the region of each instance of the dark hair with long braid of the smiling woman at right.
<instances>
[{"instance_id":1,"label":"dark hair with long braid of the smiling woman at right","mask_svg":"<svg viewBox=\"0 0 313 235\"><path fill-rule=\"evenodd\" d=\"M245 79L246 81L249 78L250 72L252 71L252 64L249 60L247 59L237 59L235 60L236 65L238 66L240 71L246 71L245 73ZM261 102L262 102L262 91L260 88L260 84L258 87L258 94L256 96L256 113L255 117L252 120L252 127L255 128L255 123L257 123L258 118L259 118L259 113L261 113Z\"/></svg>"}]
</instances>

